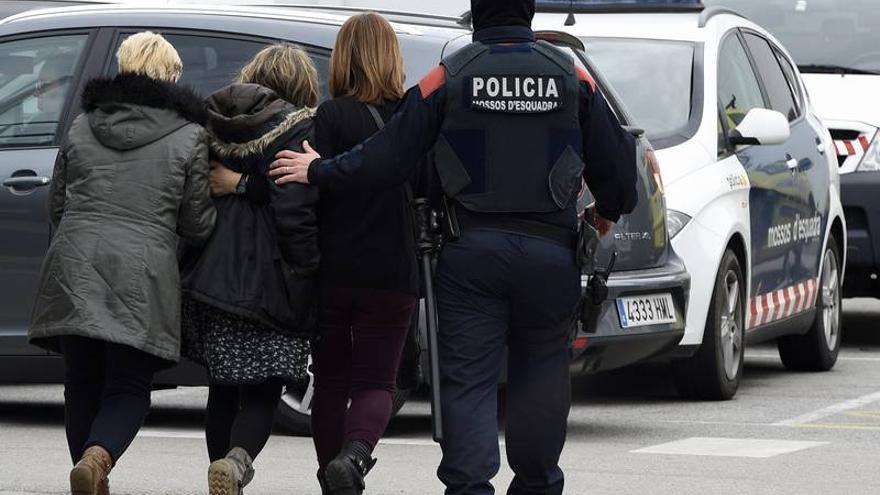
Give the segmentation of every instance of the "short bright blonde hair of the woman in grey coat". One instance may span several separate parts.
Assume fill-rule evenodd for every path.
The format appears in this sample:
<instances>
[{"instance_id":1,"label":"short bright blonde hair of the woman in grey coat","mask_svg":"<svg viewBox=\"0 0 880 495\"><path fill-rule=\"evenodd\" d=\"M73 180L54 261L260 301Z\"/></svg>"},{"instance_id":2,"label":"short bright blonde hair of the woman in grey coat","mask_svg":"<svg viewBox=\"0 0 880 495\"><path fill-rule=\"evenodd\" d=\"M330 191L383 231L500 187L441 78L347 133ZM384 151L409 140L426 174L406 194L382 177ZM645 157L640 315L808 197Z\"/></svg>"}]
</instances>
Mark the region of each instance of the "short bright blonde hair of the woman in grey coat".
<instances>
[{"instance_id":1,"label":"short bright blonde hair of the woman in grey coat","mask_svg":"<svg viewBox=\"0 0 880 495\"><path fill-rule=\"evenodd\" d=\"M140 74L160 81L174 81L183 73L183 61L174 46L161 35L144 31L129 36L116 51L120 74Z\"/></svg>"}]
</instances>

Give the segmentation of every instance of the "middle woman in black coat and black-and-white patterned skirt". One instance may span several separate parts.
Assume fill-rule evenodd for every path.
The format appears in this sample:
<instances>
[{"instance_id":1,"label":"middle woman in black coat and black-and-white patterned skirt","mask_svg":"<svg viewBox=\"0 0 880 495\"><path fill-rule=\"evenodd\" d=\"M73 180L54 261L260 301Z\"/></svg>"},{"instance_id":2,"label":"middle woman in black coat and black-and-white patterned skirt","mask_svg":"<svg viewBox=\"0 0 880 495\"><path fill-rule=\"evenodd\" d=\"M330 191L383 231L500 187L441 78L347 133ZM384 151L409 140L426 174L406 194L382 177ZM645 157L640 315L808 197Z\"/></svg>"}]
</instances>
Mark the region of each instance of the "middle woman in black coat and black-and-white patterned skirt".
<instances>
[{"instance_id":1,"label":"middle woman in black coat and black-and-white patterned skirt","mask_svg":"<svg viewBox=\"0 0 880 495\"><path fill-rule=\"evenodd\" d=\"M244 193L215 200L213 237L183 263L183 353L210 379L211 495L238 494L251 480L283 387L306 378L318 192L266 174L279 150L302 149L317 101L317 71L293 45L264 49L238 84L208 99L212 158L242 174Z\"/></svg>"}]
</instances>

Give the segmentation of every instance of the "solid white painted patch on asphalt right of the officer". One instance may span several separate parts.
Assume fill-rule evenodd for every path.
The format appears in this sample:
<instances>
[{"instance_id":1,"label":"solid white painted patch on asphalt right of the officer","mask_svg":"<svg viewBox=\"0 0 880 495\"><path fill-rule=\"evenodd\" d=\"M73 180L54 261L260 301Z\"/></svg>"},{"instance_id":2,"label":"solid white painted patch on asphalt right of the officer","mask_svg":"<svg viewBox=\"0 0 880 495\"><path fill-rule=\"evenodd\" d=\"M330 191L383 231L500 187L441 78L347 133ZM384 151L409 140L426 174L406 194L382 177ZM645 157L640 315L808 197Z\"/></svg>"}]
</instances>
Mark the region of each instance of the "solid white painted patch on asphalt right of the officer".
<instances>
[{"instance_id":1,"label":"solid white painted patch on asphalt right of the officer","mask_svg":"<svg viewBox=\"0 0 880 495\"><path fill-rule=\"evenodd\" d=\"M796 442L758 438L694 437L633 450L632 453L766 459L827 444L828 442Z\"/></svg>"}]
</instances>

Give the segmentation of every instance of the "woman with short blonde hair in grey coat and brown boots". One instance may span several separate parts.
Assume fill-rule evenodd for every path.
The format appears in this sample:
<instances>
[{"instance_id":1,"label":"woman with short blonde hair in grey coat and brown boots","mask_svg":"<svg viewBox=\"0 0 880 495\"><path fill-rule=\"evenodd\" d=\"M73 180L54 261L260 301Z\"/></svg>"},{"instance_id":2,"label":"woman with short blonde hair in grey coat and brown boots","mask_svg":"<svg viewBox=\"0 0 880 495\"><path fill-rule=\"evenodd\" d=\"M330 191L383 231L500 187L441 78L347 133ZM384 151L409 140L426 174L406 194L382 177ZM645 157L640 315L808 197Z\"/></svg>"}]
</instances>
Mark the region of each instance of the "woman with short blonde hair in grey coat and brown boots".
<instances>
[{"instance_id":1,"label":"woman with short blonde hair in grey coat and brown boots","mask_svg":"<svg viewBox=\"0 0 880 495\"><path fill-rule=\"evenodd\" d=\"M174 83L177 52L153 33L126 39L119 76L82 95L55 167L55 234L30 339L64 355L65 427L75 495L109 493L111 466L150 408L154 373L180 356L182 239L211 235L202 100Z\"/></svg>"}]
</instances>

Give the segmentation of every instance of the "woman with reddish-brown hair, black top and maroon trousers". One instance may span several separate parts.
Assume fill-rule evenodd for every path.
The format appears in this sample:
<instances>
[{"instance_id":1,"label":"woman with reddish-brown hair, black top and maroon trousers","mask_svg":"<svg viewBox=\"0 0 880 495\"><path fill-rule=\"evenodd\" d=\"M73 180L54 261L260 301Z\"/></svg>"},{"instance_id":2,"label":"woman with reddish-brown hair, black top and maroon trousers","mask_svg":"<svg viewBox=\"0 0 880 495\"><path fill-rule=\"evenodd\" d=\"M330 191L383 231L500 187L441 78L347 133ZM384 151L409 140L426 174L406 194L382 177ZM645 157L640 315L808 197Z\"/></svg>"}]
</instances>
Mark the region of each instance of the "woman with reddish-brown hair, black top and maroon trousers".
<instances>
[{"instance_id":1,"label":"woman with reddish-brown hair, black top and maroon trousers","mask_svg":"<svg viewBox=\"0 0 880 495\"><path fill-rule=\"evenodd\" d=\"M394 29L363 14L339 32L330 92L315 117L322 156L376 133L403 96ZM326 493L359 494L391 418L398 368L418 303L406 187L322 190L320 340L314 352L312 432Z\"/></svg>"}]
</instances>

